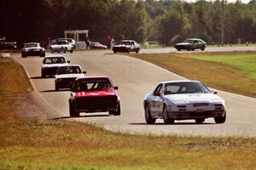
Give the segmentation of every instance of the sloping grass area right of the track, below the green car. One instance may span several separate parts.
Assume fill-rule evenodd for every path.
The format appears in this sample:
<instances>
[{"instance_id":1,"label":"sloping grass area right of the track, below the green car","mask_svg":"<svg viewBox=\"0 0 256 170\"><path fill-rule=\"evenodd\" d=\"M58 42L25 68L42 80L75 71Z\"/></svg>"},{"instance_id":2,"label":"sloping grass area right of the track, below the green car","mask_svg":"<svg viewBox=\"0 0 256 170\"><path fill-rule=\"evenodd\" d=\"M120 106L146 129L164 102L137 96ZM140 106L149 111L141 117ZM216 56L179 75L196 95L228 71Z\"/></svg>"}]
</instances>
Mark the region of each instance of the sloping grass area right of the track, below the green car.
<instances>
[{"instance_id":1,"label":"sloping grass area right of the track, below the green car","mask_svg":"<svg viewBox=\"0 0 256 170\"><path fill-rule=\"evenodd\" d=\"M129 54L208 87L256 97L256 53Z\"/></svg>"}]
</instances>

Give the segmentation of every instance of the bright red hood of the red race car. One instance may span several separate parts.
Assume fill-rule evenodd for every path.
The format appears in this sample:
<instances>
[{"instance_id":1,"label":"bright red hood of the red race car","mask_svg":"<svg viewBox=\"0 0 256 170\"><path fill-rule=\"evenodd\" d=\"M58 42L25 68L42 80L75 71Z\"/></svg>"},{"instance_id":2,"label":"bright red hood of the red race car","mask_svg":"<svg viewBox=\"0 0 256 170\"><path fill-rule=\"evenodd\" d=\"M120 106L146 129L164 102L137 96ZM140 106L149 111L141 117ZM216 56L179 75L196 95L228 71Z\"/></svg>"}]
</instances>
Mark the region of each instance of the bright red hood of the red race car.
<instances>
[{"instance_id":1,"label":"bright red hood of the red race car","mask_svg":"<svg viewBox=\"0 0 256 170\"><path fill-rule=\"evenodd\" d=\"M86 91L86 92L76 92L75 96L77 97L91 97L91 96L108 96L108 95L116 95L115 90L113 88L99 90L99 91Z\"/></svg>"}]
</instances>

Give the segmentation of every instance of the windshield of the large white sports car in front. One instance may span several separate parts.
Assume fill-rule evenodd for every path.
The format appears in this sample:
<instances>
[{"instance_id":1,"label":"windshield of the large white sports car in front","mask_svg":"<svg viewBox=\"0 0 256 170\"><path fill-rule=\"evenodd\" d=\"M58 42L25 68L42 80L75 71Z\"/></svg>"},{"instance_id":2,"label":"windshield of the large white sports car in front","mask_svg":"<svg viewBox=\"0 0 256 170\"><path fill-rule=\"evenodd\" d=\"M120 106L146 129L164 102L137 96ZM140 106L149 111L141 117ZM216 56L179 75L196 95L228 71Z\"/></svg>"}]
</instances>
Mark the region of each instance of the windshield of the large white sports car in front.
<instances>
[{"instance_id":1,"label":"windshield of the large white sports car in front","mask_svg":"<svg viewBox=\"0 0 256 170\"><path fill-rule=\"evenodd\" d=\"M169 82L164 94L211 94L211 91L201 82Z\"/></svg>"}]
</instances>

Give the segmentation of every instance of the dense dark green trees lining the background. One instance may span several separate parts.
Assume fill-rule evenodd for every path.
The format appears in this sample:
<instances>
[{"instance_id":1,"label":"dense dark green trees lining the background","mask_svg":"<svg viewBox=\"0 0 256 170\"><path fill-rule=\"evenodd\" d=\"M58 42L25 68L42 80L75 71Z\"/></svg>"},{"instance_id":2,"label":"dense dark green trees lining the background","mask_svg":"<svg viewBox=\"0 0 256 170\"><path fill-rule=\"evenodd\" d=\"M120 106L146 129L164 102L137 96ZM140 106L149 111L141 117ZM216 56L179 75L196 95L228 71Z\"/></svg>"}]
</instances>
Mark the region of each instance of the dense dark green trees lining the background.
<instances>
[{"instance_id":1,"label":"dense dark green trees lining the background","mask_svg":"<svg viewBox=\"0 0 256 170\"><path fill-rule=\"evenodd\" d=\"M0 36L46 42L65 30L89 30L90 40L121 35L137 42L172 45L186 37L219 43L221 1L1 0ZM256 42L256 0L224 5L224 42Z\"/></svg>"}]
</instances>

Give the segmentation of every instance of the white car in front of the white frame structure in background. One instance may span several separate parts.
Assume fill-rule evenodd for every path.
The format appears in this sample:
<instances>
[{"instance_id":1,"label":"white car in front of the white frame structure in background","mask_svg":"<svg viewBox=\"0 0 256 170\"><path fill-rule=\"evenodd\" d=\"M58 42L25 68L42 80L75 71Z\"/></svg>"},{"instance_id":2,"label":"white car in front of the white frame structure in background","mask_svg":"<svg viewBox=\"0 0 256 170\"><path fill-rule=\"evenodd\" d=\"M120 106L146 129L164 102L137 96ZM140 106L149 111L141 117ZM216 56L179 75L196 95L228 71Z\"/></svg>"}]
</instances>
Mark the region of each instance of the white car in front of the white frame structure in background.
<instances>
[{"instance_id":1,"label":"white car in front of the white frame structure in background","mask_svg":"<svg viewBox=\"0 0 256 170\"><path fill-rule=\"evenodd\" d=\"M52 41L49 44L49 50L50 53L66 53L67 51L69 51L70 53L73 53L73 45L70 44L70 42L68 42L67 40L60 40L60 41Z\"/></svg>"}]
</instances>

